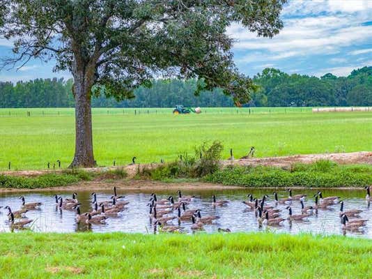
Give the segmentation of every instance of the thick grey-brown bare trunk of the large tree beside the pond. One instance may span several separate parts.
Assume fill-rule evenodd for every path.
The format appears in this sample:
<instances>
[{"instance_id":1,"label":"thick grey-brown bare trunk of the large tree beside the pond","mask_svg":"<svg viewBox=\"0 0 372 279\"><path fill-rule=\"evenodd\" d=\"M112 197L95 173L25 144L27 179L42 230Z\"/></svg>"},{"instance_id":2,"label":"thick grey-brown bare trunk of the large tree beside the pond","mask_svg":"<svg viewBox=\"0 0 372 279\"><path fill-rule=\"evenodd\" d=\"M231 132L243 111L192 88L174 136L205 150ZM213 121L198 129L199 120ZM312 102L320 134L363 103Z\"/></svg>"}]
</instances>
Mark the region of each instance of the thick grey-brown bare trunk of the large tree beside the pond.
<instances>
[{"instance_id":1,"label":"thick grey-brown bare trunk of the large tree beside the pond","mask_svg":"<svg viewBox=\"0 0 372 279\"><path fill-rule=\"evenodd\" d=\"M80 75L82 77L82 75ZM70 167L94 167L91 84L75 77L75 156Z\"/></svg>"}]
</instances>

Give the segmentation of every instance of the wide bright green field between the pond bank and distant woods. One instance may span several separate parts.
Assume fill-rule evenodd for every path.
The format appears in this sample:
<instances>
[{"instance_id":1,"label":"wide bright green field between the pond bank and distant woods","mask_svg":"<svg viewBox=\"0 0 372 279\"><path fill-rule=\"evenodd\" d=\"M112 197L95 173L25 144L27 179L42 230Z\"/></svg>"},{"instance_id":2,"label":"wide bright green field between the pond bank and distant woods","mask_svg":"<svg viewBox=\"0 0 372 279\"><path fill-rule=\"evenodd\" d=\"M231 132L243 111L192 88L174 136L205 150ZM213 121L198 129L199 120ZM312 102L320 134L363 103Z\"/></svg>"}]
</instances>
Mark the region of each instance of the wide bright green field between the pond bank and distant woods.
<instances>
[{"instance_id":1,"label":"wide bright green field between the pond bank and distant woods","mask_svg":"<svg viewBox=\"0 0 372 279\"><path fill-rule=\"evenodd\" d=\"M31 116L27 117L26 112ZM149 112L149 114L147 113ZM10 112L10 116L9 116ZM44 112L44 114L42 114ZM224 158L250 146L256 156L364 151L372 149L372 112L312 114L309 108L209 108L202 114L171 114L171 109L93 109L93 145L100 166L174 160L206 141L224 144ZM139 113L140 112L140 113ZM74 153L73 109L0 110L0 170L46 169Z\"/></svg>"}]
</instances>

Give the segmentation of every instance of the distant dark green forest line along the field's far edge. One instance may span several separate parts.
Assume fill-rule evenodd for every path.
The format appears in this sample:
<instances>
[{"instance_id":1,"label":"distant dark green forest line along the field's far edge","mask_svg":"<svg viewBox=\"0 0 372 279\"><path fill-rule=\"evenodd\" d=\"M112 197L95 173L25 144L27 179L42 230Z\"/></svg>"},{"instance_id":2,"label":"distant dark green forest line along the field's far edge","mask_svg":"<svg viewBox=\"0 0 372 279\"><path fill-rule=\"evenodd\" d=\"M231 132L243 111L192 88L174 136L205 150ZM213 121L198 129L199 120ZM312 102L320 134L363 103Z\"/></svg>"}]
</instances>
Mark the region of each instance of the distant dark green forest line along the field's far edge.
<instances>
[{"instance_id":1,"label":"distant dark green forest line along the field's far edge","mask_svg":"<svg viewBox=\"0 0 372 279\"><path fill-rule=\"evenodd\" d=\"M315 107L372 105L372 67L353 70L348 77L331 73L323 77L288 75L266 68L254 76L259 85L251 107ZM72 80L37 79L29 82L0 82L0 107L73 107ZM93 107L232 107L233 101L221 90L194 96L196 80L155 80L153 87L140 87L136 98L117 102L94 96Z\"/></svg>"}]
</instances>

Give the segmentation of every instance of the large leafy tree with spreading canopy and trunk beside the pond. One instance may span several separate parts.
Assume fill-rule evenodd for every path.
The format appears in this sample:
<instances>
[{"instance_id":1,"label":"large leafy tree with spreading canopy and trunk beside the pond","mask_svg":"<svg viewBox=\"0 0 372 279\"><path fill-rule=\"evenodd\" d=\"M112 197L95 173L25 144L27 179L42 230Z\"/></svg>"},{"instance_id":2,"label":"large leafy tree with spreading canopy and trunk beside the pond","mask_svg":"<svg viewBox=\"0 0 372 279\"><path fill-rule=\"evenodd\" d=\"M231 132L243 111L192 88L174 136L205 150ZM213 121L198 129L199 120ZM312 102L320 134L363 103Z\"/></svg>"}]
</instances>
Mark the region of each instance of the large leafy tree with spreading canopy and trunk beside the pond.
<instances>
[{"instance_id":1,"label":"large leafy tree with spreading canopy and trunk beside the pond","mask_svg":"<svg viewBox=\"0 0 372 279\"><path fill-rule=\"evenodd\" d=\"M0 0L0 36L14 42L3 66L55 61L74 78L72 167L95 165L91 96L133 98L156 77L196 77L196 94L217 86L247 103L254 84L233 63L232 23L258 36L279 32L286 0Z\"/></svg>"}]
</instances>

